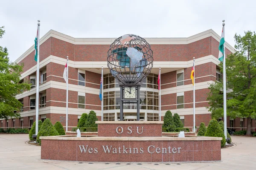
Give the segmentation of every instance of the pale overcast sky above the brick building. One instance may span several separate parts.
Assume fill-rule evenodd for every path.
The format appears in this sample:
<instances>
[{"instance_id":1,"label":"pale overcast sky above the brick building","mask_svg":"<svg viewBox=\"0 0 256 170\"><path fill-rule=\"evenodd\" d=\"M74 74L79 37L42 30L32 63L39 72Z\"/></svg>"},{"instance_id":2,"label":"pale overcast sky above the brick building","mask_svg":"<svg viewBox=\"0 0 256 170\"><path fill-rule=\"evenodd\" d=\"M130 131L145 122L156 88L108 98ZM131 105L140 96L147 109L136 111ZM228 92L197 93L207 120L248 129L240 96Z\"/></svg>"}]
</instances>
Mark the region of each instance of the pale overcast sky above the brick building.
<instances>
[{"instance_id":1,"label":"pale overcast sky above the brick building","mask_svg":"<svg viewBox=\"0 0 256 170\"><path fill-rule=\"evenodd\" d=\"M15 61L34 45L38 19L40 37L53 29L76 38L189 37L208 29L220 35L225 19L226 41L234 46L236 33L256 31L255 6L255 0L5 0L0 46Z\"/></svg>"}]
</instances>

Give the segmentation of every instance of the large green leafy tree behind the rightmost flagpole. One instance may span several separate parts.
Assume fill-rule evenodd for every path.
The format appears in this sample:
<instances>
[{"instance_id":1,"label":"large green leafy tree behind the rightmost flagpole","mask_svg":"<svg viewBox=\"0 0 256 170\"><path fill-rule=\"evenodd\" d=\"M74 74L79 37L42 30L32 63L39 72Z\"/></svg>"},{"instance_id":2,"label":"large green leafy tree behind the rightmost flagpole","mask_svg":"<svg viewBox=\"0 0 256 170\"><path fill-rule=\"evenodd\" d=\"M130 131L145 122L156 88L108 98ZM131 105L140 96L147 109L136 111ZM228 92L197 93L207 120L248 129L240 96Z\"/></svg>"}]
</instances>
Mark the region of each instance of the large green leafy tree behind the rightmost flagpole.
<instances>
[{"instance_id":1,"label":"large green leafy tree behind the rightmost flagpole","mask_svg":"<svg viewBox=\"0 0 256 170\"><path fill-rule=\"evenodd\" d=\"M256 118L256 34L245 31L235 35L236 52L226 59L227 116L247 118L246 135L251 135L251 119ZM220 63L223 72L223 63ZM223 85L215 82L209 86L207 100L213 118L223 116Z\"/></svg>"}]
</instances>

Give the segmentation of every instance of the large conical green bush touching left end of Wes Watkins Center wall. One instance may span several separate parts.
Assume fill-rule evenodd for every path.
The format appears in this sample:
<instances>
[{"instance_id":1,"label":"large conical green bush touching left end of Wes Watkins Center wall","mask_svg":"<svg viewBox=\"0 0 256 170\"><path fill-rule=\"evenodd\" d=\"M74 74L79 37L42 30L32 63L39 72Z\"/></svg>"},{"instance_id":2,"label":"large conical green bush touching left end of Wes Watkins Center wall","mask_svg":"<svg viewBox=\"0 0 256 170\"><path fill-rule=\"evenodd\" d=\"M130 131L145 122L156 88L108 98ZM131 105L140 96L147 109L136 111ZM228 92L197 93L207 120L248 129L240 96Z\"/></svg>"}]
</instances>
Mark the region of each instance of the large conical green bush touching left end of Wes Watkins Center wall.
<instances>
[{"instance_id":1,"label":"large conical green bush touching left end of Wes Watkins Center wall","mask_svg":"<svg viewBox=\"0 0 256 170\"><path fill-rule=\"evenodd\" d=\"M36 141L41 145L41 139L40 136L58 136L58 131L55 129L55 127L52 125L52 122L50 119L45 119L44 123L41 125L41 128L38 132L38 136L36 138Z\"/></svg>"}]
</instances>

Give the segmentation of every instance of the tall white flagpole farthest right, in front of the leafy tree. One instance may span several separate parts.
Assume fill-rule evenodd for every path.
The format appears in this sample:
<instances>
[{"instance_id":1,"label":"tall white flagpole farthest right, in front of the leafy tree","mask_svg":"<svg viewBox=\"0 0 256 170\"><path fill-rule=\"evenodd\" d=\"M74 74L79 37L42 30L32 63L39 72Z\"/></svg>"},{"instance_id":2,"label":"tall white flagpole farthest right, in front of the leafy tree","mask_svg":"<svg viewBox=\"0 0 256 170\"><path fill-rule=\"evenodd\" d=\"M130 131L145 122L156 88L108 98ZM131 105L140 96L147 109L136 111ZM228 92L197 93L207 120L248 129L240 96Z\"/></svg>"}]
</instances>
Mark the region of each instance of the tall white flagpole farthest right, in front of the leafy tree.
<instances>
[{"instance_id":1,"label":"tall white flagpole farthest right, in front of the leafy tree","mask_svg":"<svg viewBox=\"0 0 256 170\"><path fill-rule=\"evenodd\" d=\"M225 31L225 20L222 21L223 32ZM224 32L224 40L225 40L225 32ZM225 42L223 44L224 53L223 53L223 107L224 107L224 135L227 139L227 96L226 96L226 54L225 54Z\"/></svg>"}]
</instances>

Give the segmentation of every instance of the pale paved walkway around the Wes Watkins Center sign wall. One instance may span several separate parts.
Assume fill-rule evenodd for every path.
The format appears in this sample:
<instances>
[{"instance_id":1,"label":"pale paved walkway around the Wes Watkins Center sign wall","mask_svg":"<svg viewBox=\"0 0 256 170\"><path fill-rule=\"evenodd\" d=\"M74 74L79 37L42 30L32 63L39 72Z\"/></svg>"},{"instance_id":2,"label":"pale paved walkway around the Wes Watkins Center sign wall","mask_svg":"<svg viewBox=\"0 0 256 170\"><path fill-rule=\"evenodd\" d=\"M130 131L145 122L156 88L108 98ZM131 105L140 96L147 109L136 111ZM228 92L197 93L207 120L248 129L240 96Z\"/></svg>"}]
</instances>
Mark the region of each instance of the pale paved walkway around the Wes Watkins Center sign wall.
<instances>
[{"instance_id":1,"label":"pale paved walkway around the Wes Watkins Center sign wall","mask_svg":"<svg viewBox=\"0 0 256 170\"><path fill-rule=\"evenodd\" d=\"M232 136L236 146L221 150L221 162L140 165L41 160L41 147L26 144L27 140L27 134L0 134L1 170L253 170L256 168L256 137Z\"/></svg>"}]
</instances>

